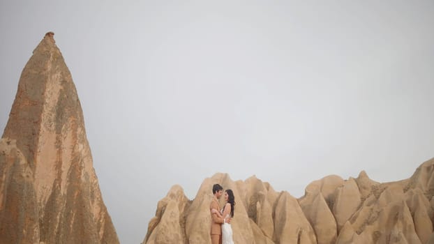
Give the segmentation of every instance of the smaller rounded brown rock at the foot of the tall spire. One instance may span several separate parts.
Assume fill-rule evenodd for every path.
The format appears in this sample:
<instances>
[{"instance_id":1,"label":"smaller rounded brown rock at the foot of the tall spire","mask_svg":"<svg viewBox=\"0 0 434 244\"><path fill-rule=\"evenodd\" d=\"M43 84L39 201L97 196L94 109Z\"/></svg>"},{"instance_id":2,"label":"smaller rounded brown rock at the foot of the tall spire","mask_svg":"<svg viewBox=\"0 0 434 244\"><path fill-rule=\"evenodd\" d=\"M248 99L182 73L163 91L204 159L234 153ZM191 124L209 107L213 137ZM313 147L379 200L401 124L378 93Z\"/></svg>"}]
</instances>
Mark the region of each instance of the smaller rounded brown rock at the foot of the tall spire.
<instances>
[{"instance_id":1,"label":"smaller rounded brown rock at the foot of the tall spire","mask_svg":"<svg viewBox=\"0 0 434 244\"><path fill-rule=\"evenodd\" d=\"M0 139L0 177L0 243L36 243L40 232L33 171L15 140Z\"/></svg>"}]
</instances>

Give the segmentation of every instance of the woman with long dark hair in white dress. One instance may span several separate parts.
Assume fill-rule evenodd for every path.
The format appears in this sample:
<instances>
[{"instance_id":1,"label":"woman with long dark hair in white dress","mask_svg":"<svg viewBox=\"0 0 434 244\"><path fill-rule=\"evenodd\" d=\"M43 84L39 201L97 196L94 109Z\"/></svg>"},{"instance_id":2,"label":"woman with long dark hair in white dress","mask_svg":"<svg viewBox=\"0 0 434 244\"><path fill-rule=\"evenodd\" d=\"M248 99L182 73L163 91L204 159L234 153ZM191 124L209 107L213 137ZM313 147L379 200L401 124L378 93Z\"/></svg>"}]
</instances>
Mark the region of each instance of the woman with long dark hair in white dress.
<instances>
[{"instance_id":1,"label":"woman with long dark hair in white dress","mask_svg":"<svg viewBox=\"0 0 434 244\"><path fill-rule=\"evenodd\" d=\"M225 190L225 206L222 209L222 213L219 213L216 209L212 209L213 213L217 213L221 218L224 218L225 221L221 226L221 235L222 235L222 244L234 244L232 239L232 227L229 223L226 222L228 218L234 217L234 206L235 206L235 197L234 192L232 190Z\"/></svg>"}]
</instances>

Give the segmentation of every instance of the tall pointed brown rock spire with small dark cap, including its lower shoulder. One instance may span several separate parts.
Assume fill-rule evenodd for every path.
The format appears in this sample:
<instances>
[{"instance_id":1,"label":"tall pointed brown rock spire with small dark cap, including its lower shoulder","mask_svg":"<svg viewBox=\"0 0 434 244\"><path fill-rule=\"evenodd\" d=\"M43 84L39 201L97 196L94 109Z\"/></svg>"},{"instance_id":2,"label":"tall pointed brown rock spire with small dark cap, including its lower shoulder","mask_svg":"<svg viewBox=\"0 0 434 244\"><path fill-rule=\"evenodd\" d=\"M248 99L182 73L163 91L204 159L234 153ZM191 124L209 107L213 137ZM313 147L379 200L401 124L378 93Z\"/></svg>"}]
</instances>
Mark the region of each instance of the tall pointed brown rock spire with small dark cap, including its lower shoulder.
<instances>
[{"instance_id":1,"label":"tall pointed brown rock spire with small dark cap, including its lower shoulder","mask_svg":"<svg viewBox=\"0 0 434 244\"><path fill-rule=\"evenodd\" d=\"M53 35L24 67L0 140L0 243L119 243Z\"/></svg>"}]
</instances>

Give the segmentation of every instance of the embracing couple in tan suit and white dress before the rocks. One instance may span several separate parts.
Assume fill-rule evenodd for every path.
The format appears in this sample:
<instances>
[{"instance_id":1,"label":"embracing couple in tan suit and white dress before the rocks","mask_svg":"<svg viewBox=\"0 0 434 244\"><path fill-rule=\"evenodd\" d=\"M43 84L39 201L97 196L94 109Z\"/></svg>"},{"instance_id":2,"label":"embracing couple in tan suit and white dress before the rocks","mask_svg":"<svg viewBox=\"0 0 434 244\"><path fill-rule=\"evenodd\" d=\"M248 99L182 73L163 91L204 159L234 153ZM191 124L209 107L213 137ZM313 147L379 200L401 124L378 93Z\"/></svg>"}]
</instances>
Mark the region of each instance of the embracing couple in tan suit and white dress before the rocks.
<instances>
[{"instance_id":1,"label":"embracing couple in tan suit and white dress before the rocks","mask_svg":"<svg viewBox=\"0 0 434 244\"><path fill-rule=\"evenodd\" d=\"M232 190L225 190L225 206L220 211L218 199L223 195L221 185L213 185L214 197L211 200L211 244L234 244L232 240L231 219L234 217L235 197Z\"/></svg>"}]
</instances>

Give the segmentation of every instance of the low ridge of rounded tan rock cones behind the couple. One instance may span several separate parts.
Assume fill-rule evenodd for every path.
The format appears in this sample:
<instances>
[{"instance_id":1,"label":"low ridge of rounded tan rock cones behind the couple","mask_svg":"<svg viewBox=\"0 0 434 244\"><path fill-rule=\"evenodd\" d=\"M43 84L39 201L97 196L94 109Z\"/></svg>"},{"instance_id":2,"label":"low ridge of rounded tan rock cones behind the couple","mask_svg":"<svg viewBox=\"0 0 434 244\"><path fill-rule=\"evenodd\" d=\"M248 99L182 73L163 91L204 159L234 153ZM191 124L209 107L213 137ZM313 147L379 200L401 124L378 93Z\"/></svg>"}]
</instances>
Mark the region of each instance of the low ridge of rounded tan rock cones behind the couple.
<instances>
[{"instance_id":1,"label":"low ridge of rounded tan rock cones behind the couple","mask_svg":"<svg viewBox=\"0 0 434 244\"><path fill-rule=\"evenodd\" d=\"M404 181L377 183L365 171L348 180L327 176L310 183L299 199L255 176L232 181L215 174L193 201L177 185L158 202L143 243L211 243L214 183L234 191L235 243L434 244L434 158Z\"/></svg>"}]
</instances>

